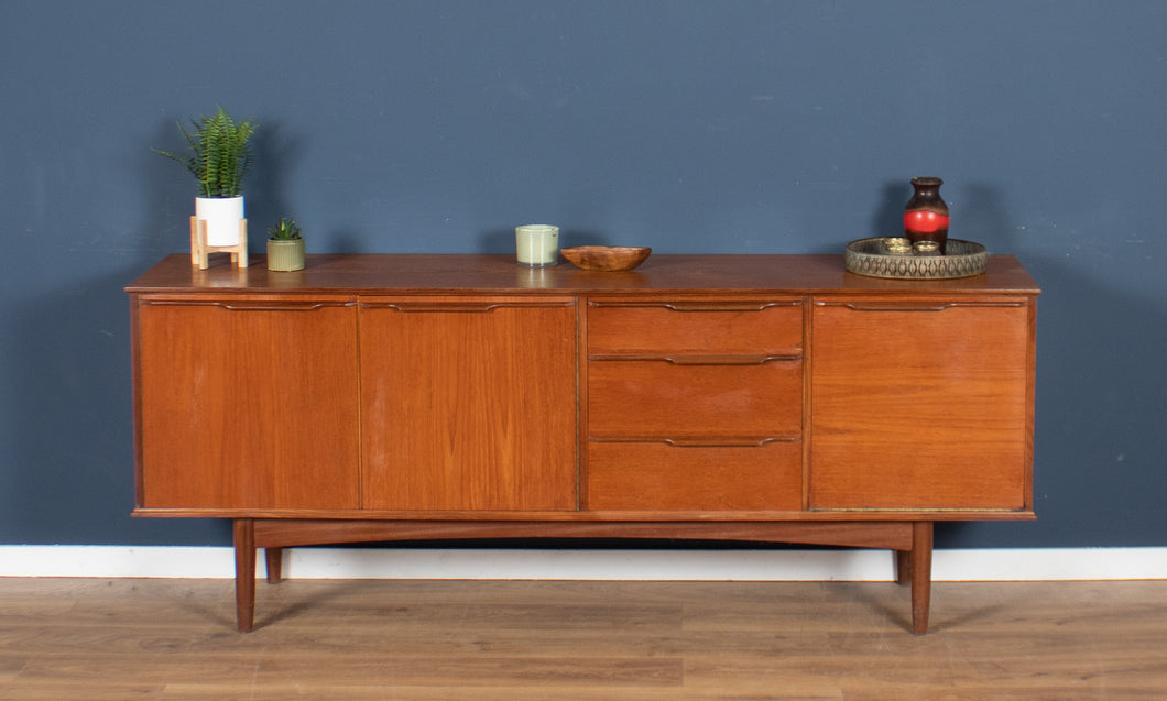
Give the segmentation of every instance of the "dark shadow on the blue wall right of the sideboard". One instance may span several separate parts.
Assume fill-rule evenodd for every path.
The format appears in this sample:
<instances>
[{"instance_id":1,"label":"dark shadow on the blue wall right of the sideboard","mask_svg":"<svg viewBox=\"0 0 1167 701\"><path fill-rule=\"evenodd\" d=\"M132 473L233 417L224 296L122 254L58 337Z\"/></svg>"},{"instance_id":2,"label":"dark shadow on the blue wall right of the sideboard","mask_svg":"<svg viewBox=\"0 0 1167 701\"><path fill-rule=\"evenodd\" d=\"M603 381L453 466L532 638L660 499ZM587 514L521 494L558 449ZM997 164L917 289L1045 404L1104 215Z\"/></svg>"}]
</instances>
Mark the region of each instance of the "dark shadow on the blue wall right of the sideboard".
<instances>
[{"instance_id":1,"label":"dark shadow on the blue wall right of the sideboard","mask_svg":"<svg viewBox=\"0 0 1167 701\"><path fill-rule=\"evenodd\" d=\"M1152 257L1067 250L1009 216L1008 192L970 183L956 238L1013 254L1037 299L1035 523L937 524L936 546L1139 547L1167 532L1167 296ZM1047 234L1055 233L1046 231ZM1111 245L1117 244L1112 241ZM1149 244L1144 244L1149 245ZM1156 289L1156 286L1159 289Z\"/></svg>"}]
</instances>

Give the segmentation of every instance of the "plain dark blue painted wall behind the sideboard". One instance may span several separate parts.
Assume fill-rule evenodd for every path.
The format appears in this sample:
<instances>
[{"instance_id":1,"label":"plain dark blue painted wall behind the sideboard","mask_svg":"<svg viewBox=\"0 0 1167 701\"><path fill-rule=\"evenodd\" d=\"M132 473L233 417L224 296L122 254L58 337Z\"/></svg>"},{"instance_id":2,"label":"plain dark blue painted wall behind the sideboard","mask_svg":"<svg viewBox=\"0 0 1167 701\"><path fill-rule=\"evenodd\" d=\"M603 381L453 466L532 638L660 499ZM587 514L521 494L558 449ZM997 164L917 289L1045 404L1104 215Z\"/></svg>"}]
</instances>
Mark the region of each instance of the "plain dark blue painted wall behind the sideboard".
<instances>
[{"instance_id":1,"label":"plain dark blue painted wall behind the sideboard","mask_svg":"<svg viewBox=\"0 0 1167 701\"><path fill-rule=\"evenodd\" d=\"M188 250L193 181L149 147L223 105L261 125L253 227L294 216L309 252L504 252L529 220L838 252L939 175L952 236L1046 290L1040 519L939 545L1167 545L1163 27L1159 0L4 2L0 542L228 542L128 516L121 292Z\"/></svg>"}]
</instances>

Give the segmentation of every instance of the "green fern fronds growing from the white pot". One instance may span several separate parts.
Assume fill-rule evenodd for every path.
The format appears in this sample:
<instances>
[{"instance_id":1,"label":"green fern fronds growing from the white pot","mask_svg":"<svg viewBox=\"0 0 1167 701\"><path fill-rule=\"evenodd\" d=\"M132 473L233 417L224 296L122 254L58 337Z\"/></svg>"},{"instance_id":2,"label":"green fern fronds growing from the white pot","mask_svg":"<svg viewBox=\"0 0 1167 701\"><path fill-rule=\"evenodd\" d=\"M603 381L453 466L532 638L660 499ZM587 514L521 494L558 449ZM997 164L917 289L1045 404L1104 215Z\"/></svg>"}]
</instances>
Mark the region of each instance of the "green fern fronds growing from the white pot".
<instances>
[{"instance_id":1,"label":"green fern fronds growing from the white pot","mask_svg":"<svg viewBox=\"0 0 1167 701\"><path fill-rule=\"evenodd\" d=\"M251 136L256 125L251 119L236 122L223 107L214 115L190 120L193 129L181 124L187 153L152 148L154 153L177 161L198 181L201 197L238 197L243 180L251 169Z\"/></svg>"}]
</instances>

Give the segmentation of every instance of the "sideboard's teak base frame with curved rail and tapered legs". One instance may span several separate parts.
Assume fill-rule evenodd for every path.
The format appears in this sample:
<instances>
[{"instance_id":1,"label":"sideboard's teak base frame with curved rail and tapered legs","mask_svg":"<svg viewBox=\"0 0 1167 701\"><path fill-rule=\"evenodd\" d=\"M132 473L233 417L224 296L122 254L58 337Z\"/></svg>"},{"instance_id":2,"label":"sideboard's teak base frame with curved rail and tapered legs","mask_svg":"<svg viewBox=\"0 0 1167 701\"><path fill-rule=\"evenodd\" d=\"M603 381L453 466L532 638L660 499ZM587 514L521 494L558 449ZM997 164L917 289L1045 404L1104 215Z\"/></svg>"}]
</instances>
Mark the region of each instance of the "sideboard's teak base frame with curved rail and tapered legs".
<instances>
[{"instance_id":1,"label":"sideboard's teak base frame with curved rail and tapered legs","mask_svg":"<svg viewBox=\"0 0 1167 701\"><path fill-rule=\"evenodd\" d=\"M282 579L284 548L344 542L503 538L628 538L790 542L889 549L896 581L911 587L911 629L928 632L932 521L359 521L235 519L236 621L254 626L256 554L264 548L268 583Z\"/></svg>"}]
</instances>

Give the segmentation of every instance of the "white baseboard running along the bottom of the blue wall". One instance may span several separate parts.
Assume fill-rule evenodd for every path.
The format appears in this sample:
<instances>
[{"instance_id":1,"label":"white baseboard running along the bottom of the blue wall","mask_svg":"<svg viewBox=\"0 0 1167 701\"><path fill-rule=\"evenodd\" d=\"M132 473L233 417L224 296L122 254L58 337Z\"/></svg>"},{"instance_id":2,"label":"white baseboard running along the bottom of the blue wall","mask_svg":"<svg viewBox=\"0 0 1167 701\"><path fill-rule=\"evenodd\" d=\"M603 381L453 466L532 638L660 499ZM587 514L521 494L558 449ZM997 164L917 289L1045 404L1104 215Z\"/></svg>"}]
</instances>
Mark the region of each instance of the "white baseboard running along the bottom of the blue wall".
<instances>
[{"instance_id":1,"label":"white baseboard running along the bottom of the blue wall","mask_svg":"<svg viewBox=\"0 0 1167 701\"><path fill-rule=\"evenodd\" d=\"M264 559L257 568L264 572ZM291 548L298 579L888 581L887 551L574 551ZM0 576L235 576L229 547L0 546ZM932 580L1162 580L1167 547L939 549Z\"/></svg>"}]
</instances>

